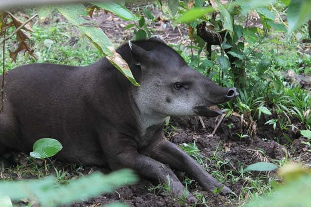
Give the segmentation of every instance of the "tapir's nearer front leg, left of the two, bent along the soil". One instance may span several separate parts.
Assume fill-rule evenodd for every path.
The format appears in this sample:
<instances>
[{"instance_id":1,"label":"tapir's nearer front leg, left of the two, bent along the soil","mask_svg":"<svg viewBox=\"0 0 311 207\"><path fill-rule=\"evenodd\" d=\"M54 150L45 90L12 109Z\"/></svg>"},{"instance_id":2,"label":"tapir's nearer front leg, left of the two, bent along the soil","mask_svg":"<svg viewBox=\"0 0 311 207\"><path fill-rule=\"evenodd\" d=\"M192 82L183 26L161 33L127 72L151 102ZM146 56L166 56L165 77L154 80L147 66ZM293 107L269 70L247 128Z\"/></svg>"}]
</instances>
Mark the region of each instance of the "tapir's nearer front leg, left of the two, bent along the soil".
<instances>
[{"instance_id":1,"label":"tapir's nearer front leg, left of the two, bent along the soil","mask_svg":"<svg viewBox=\"0 0 311 207\"><path fill-rule=\"evenodd\" d=\"M123 145L120 145L121 147L112 147L109 150L109 154L114 154L113 157L110 157L107 160L109 167L112 170L131 168L139 175L154 180L160 180L161 182L168 184L174 196L178 198L182 198L184 196L186 191L185 187L181 184L177 176L168 166L156 161L155 159L139 154L135 147L128 145L124 146L126 141L122 143ZM189 203L195 203L197 201L197 199L189 192L186 193L186 199Z\"/></svg>"}]
</instances>

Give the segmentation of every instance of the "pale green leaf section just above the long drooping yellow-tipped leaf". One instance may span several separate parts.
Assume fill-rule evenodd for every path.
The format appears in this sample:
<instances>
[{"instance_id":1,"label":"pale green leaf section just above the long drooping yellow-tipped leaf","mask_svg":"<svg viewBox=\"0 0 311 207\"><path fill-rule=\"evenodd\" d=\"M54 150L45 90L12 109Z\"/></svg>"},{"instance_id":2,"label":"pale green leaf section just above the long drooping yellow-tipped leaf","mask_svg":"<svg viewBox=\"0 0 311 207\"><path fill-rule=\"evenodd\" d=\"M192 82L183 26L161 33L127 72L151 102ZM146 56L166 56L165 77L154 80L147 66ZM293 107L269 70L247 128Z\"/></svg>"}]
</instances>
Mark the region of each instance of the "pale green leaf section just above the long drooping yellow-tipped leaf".
<instances>
[{"instance_id":1,"label":"pale green leaf section just above the long drooping yellow-tipped leaf","mask_svg":"<svg viewBox=\"0 0 311 207\"><path fill-rule=\"evenodd\" d=\"M83 4L57 5L56 9L73 25L77 26L88 22L81 17L88 15Z\"/></svg>"}]
</instances>

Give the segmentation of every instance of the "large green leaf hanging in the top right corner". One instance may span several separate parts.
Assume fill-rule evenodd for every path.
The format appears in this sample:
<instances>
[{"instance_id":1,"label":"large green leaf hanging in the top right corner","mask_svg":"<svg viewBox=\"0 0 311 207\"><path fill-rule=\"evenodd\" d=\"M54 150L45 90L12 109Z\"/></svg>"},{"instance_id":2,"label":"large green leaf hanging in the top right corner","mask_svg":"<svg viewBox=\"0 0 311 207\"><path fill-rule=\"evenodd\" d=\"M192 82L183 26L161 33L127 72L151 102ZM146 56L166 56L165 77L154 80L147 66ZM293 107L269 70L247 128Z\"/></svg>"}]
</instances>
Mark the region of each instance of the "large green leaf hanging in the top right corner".
<instances>
[{"instance_id":1,"label":"large green leaf hanging in the top right corner","mask_svg":"<svg viewBox=\"0 0 311 207\"><path fill-rule=\"evenodd\" d=\"M311 0L291 0L287 9L288 33L311 19Z\"/></svg>"}]
</instances>

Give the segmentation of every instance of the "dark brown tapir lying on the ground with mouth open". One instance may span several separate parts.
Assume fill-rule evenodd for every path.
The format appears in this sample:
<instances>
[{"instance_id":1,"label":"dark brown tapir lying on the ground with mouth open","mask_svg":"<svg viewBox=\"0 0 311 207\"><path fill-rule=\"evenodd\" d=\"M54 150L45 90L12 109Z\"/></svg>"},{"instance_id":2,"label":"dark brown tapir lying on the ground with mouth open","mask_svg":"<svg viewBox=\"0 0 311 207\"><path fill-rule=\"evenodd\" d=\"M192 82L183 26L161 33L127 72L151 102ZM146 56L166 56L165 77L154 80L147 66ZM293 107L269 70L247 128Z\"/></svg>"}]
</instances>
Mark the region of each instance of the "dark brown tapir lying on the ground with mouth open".
<instances>
[{"instance_id":1,"label":"dark brown tapir lying on the ground with mouth open","mask_svg":"<svg viewBox=\"0 0 311 207\"><path fill-rule=\"evenodd\" d=\"M168 116L215 117L215 107L236 96L190 68L161 39L133 41L117 52L127 62L134 86L106 58L87 66L27 64L5 77L0 113L0 154L29 153L40 138L63 145L55 156L85 166L131 168L187 195L172 169L192 176L207 191L230 189L219 183L163 133Z\"/></svg>"}]
</instances>

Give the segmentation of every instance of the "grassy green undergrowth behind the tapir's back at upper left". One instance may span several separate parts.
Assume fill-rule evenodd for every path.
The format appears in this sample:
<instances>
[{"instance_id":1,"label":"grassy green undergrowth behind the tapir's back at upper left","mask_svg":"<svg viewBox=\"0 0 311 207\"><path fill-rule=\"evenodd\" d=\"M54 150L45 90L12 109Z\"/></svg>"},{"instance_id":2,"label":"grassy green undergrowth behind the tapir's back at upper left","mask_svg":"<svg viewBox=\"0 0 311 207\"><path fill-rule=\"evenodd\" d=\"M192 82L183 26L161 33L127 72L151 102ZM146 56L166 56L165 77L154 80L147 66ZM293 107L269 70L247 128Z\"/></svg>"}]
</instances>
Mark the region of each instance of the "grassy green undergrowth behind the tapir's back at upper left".
<instances>
[{"instance_id":1,"label":"grassy green undergrowth behind the tapir's back at upper left","mask_svg":"<svg viewBox=\"0 0 311 207\"><path fill-rule=\"evenodd\" d=\"M23 64L33 63L53 63L84 66L96 62L102 58L101 53L86 39L80 32L59 15L53 15L43 21L32 25L35 32L32 32L30 44L35 49L34 54L37 59L28 53L21 52L17 55L17 61L14 62L9 56L9 50L17 47L15 38L6 41L5 45L5 70L13 69ZM8 29L7 33L13 30ZM2 48L2 47L1 47ZM3 55L2 49L0 53ZM0 64L3 64L0 59ZM0 70L2 74L2 67Z\"/></svg>"}]
</instances>

